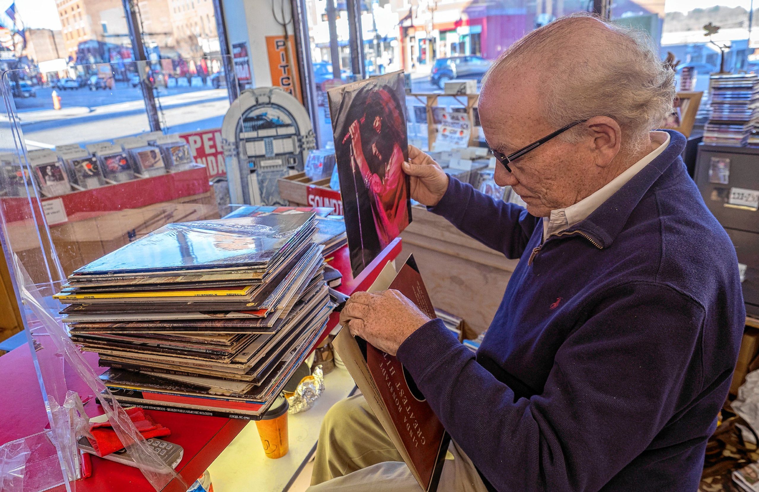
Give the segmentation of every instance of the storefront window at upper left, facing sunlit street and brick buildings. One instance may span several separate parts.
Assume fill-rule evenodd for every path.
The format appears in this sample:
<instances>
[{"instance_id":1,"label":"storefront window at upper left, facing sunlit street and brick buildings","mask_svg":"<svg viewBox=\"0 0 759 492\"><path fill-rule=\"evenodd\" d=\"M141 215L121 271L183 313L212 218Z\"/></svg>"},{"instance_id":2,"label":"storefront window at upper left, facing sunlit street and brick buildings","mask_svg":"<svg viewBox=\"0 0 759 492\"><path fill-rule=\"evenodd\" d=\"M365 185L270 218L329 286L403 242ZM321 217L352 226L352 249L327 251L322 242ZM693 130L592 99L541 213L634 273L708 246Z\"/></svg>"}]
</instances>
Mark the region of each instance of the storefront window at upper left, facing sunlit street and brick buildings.
<instances>
[{"instance_id":1,"label":"storefront window at upper left, facing sunlit street and brick buildings","mask_svg":"<svg viewBox=\"0 0 759 492\"><path fill-rule=\"evenodd\" d=\"M28 121L32 147L80 142L83 135L98 140L106 127L102 137L113 138L155 130L156 123L165 133L221 126L228 84L213 0L134 2L146 61L134 52L120 0L14 5L0 21L23 36L2 44L8 54L0 68L19 77L11 84L14 103ZM153 121L146 105L155 106Z\"/></svg>"}]
</instances>

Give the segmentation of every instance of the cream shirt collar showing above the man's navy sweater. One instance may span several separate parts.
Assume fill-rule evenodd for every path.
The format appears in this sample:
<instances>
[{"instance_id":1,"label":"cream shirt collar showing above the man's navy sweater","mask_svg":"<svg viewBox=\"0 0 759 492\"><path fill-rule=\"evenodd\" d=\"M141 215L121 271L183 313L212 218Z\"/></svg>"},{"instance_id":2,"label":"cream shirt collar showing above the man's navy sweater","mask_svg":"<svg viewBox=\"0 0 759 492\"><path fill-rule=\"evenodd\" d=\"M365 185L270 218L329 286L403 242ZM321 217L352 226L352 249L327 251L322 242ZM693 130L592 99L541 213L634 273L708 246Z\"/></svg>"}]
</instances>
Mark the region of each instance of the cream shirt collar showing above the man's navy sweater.
<instances>
[{"instance_id":1,"label":"cream shirt collar showing above the man's navy sweater","mask_svg":"<svg viewBox=\"0 0 759 492\"><path fill-rule=\"evenodd\" d=\"M568 229L581 220L586 219L601 203L609 200L609 197L619 191L619 188L622 188L627 181L630 181L633 176L641 172L641 169L646 167L653 159L656 159L669 146L669 134L666 131L652 131L651 140L653 142L662 142L662 144L643 159L625 169L622 174L609 181L594 194L583 198L578 203L569 207L551 210L549 217L543 217L543 238L548 238L552 234L562 232L564 229Z\"/></svg>"}]
</instances>

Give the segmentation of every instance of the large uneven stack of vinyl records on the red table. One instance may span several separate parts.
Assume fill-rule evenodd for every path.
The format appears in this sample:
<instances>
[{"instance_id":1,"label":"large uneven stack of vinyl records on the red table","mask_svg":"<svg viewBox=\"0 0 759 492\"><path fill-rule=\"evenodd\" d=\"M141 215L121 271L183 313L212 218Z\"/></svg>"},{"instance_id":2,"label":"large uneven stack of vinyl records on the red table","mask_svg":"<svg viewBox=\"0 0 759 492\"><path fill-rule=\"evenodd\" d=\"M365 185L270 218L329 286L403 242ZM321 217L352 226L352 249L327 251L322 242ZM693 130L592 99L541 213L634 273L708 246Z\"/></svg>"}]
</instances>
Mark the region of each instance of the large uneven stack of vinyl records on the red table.
<instances>
[{"instance_id":1,"label":"large uneven stack of vinyl records on the red table","mask_svg":"<svg viewBox=\"0 0 759 492\"><path fill-rule=\"evenodd\" d=\"M256 419L332 312L316 232L313 213L169 224L55 297L122 404Z\"/></svg>"}]
</instances>

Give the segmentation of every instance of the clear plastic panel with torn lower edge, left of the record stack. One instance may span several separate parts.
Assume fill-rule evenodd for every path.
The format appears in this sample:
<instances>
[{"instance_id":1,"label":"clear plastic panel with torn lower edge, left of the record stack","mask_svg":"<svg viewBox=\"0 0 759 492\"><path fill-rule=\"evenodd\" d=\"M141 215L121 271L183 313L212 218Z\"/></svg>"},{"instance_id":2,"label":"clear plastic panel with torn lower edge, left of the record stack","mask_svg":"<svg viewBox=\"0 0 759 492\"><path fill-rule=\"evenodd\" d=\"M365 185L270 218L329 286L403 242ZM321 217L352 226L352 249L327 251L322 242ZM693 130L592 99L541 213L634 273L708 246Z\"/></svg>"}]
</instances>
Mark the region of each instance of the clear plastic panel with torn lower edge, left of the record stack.
<instances>
[{"instance_id":1,"label":"clear plastic panel with torn lower edge, left of the record stack","mask_svg":"<svg viewBox=\"0 0 759 492\"><path fill-rule=\"evenodd\" d=\"M52 295L77 268L168 223L219 218L213 177L198 162L207 162L203 143L216 140L213 131L220 132L229 103L225 88L213 87L225 64L217 58L209 66L213 73L203 87L156 82L166 80L168 64L160 61L70 68L48 80L79 76L89 85L49 82L36 87L34 97L14 97L11 90L24 80L23 71L0 78L6 116L0 118L0 260L11 271L50 424L48 433L28 429L0 446L2 490L36 492L61 483L76 490L77 437L86 434L87 415L104 412L156 490L181 481L146 446L120 405L107 397L96 405L94 397L108 396L98 377L102 368L71 342ZM176 74L173 62L172 70ZM152 116L143 91L156 96ZM200 132L201 145L193 147L197 140L186 135L150 132L156 113L164 128L171 130L168 121L175 118L173 128ZM181 127L181 121L194 126ZM212 136L204 138L207 131ZM216 154L223 161L221 148Z\"/></svg>"}]
</instances>

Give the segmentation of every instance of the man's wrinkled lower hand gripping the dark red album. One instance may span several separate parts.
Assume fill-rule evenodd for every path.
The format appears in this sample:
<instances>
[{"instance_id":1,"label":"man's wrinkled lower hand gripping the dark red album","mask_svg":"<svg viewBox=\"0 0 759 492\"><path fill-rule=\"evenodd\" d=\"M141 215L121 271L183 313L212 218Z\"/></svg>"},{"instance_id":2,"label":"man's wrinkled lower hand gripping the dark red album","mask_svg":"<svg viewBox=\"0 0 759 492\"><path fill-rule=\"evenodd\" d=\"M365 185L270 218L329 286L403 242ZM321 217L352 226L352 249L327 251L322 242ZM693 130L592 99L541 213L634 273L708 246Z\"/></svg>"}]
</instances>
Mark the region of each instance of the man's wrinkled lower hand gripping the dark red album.
<instances>
[{"instance_id":1,"label":"man's wrinkled lower hand gripping the dark red album","mask_svg":"<svg viewBox=\"0 0 759 492\"><path fill-rule=\"evenodd\" d=\"M401 292L394 289L351 295L340 313L340 323L377 349L395 355L398 347L430 320Z\"/></svg>"}]
</instances>

